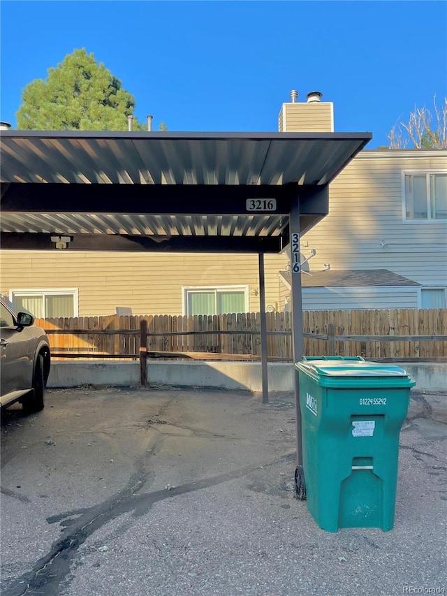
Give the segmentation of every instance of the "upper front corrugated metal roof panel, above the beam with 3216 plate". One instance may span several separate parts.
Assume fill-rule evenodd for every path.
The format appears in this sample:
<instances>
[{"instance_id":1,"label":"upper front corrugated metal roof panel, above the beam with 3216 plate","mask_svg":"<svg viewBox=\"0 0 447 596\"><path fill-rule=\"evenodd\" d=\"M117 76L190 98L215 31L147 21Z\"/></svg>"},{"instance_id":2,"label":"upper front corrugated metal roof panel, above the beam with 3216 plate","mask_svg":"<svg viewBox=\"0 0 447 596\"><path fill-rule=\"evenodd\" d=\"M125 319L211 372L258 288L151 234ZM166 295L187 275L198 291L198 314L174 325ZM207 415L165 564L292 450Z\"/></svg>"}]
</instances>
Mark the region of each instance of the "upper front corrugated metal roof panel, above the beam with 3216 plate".
<instances>
[{"instance_id":1,"label":"upper front corrugated metal roof panel, above the beam with 3216 plate","mask_svg":"<svg viewBox=\"0 0 447 596\"><path fill-rule=\"evenodd\" d=\"M369 133L1 131L1 182L325 184Z\"/></svg>"}]
</instances>

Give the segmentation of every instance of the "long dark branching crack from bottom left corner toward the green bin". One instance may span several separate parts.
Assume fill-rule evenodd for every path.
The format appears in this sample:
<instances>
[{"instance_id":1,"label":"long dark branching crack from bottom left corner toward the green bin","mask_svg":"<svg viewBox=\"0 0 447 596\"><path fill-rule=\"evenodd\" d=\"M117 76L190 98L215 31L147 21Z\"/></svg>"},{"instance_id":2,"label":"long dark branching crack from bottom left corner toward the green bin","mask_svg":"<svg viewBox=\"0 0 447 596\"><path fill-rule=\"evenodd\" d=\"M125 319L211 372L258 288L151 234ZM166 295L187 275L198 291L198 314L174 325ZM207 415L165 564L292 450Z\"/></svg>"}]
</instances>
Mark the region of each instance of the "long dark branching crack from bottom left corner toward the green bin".
<instances>
[{"instance_id":1,"label":"long dark branching crack from bottom left corner toward the green bin","mask_svg":"<svg viewBox=\"0 0 447 596\"><path fill-rule=\"evenodd\" d=\"M262 467L270 467L287 460L293 460L295 452L287 453L279 459L264 464ZM101 528L108 521L115 519L122 514L133 511L135 517L142 516L149 511L156 502L172 499L179 495L192 493L203 488L217 486L253 472L258 466L249 465L233 472L218 474L210 478L197 480L196 482L183 484L177 487L170 487L169 490L155 490L153 493L137 495L138 490L144 486L149 474L136 474L129 481L124 490L117 495L110 497L101 504L96 504L87 509L68 511L64 514L47 518L48 523L59 522L65 526L71 525L71 531L66 537L57 540L51 548L50 553L43 556L36 562L31 572L25 572L14 581L12 586L2 592L3 596L26 596L33 594L45 594L45 596L59 596L61 583L64 582L71 570L71 562L78 551L78 548L94 532ZM73 517L79 516L78 519ZM41 591L44 589L45 591Z\"/></svg>"}]
</instances>

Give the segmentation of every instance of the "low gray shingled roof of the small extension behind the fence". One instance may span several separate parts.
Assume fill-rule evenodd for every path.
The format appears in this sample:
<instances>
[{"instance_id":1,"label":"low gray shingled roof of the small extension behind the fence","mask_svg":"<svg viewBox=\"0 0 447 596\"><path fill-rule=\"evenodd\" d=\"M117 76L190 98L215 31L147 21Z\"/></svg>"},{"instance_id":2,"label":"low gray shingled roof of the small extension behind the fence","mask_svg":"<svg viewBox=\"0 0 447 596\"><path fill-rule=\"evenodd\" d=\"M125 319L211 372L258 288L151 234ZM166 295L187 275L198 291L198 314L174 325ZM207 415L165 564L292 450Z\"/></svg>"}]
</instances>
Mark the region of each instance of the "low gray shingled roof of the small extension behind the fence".
<instances>
[{"instance_id":1,"label":"low gray shingled roof of the small extension behind the fence","mask_svg":"<svg viewBox=\"0 0 447 596\"><path fill-rule=\"evenodd\" d=\"M290 273L281 272L284 282L290 286ZM388 269L328 270L303 272L304 288L370 287L370 286L420 286L413 279L398 275Z\"/></svg>"}]
</instances>

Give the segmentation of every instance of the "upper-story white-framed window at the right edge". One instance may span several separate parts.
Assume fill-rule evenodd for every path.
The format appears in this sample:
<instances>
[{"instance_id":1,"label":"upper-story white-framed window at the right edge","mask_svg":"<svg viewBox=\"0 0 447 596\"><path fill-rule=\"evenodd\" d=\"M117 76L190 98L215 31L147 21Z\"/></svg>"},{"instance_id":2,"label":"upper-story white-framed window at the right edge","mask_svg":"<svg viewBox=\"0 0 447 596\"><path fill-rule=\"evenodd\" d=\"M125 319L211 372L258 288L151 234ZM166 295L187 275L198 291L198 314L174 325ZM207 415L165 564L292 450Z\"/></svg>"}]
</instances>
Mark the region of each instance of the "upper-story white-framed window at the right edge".
<instances>
[{"instance_id":1,"label":"upper-story white-framed window at the right edge","mask_svg":"<svg viewBox=\"0 0 447 596\"><path fill-rule=\"evenodd\" d=\"M415 172L404 177L405 219L447 219L447 173Z\"/></svg>"}]
</instances>

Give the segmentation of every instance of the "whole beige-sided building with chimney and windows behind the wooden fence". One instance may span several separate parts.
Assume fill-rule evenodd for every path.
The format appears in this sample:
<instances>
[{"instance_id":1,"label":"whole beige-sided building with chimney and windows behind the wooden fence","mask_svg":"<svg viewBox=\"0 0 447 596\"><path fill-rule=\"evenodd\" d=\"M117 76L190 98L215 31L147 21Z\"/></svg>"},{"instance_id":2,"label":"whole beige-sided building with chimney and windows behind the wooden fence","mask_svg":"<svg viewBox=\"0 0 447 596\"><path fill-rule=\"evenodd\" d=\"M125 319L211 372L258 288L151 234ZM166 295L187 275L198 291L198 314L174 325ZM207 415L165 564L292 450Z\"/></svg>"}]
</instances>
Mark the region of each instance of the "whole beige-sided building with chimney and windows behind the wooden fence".
<instances>
[{"instance_id":1,"label":"whole beige-sided building with chimney and windows behind the wooden fence","mask_svg":"<svg viewBox=\"0 0 447 596\"><path fill-rule=\"evenodd\" d=\"M334 130L321 94L295 99L279 131ZM383 148L346 166L329 215L302 238L305 310L447 307L446 166L444 150ZM0 265L0 292L38 317L259 310L255 254L8 250ZM265 255L268 310L287 309L287 266L286 254Z\"/></svg>"}]
</instances>

